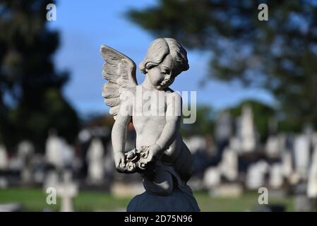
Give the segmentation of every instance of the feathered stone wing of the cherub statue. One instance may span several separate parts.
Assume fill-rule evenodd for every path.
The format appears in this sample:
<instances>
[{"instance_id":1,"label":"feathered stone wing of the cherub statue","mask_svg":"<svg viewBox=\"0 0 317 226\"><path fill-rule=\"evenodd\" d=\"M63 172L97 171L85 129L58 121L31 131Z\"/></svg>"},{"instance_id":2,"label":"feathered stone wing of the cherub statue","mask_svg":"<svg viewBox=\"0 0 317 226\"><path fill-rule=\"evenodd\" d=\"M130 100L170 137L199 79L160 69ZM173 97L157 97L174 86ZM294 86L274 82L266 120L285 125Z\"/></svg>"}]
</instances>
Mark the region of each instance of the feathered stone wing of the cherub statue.
<instances>
[{"instance_id":1,"label":"feathered stone wing of the cherub statue","mask_svg":"<svg viewBox=\"0 0 317 226\"><path fill-rule=\"evenodd\" d=\"M100 54L106 61L102 66L102 76L108 81L102 86L102 96L106 105L110 107L109 113L116 119L121 93L138 85L136 63L126 55L106 45L100 47Z\"/></svg>"}]
</instances>

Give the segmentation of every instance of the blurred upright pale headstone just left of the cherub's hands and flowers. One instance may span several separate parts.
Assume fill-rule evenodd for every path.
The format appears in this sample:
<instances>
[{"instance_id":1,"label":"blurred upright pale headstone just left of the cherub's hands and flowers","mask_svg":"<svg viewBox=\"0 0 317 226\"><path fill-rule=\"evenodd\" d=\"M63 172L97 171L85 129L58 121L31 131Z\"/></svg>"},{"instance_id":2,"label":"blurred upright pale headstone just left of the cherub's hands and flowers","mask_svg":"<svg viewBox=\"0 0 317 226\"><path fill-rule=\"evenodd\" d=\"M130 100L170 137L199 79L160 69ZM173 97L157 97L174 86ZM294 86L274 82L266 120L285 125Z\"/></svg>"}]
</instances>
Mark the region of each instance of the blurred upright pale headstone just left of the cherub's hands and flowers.
<instances>
[{"instance_id":1,"label":"blurred upright pale headstone just left of the cherub's hands and flowers","mask_svg":"<svg viewBox=\"0 0 317 226\"><path fill-rule=\"evenodd\" d=\"M94 138L88 148L88 179L100 183L104 179L104 146L99 138Z\"/></svg>"}]
</instances>

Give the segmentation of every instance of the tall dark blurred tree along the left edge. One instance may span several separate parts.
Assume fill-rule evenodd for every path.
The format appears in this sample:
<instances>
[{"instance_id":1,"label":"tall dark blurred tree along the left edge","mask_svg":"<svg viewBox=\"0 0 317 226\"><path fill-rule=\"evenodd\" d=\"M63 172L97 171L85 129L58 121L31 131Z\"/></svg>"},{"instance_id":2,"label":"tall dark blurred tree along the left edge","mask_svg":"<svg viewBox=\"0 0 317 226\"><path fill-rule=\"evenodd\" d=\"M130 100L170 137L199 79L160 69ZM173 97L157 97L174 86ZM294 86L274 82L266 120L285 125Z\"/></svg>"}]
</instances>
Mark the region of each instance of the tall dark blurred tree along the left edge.
<instances>
[{"instance_id":1,"label":"tall dark blurred tree along the left edge","mask_svg":"<svg viewBox=\"0 0 317 226\"><path fill-rule=\"evenodd\" d=\"M44 145L54 128L68 141L78 131L75 110L61 94L68 73L56 71L59 34L47 28L46 0L0 1L0 142Z\"/></svg>"}]
</instances>

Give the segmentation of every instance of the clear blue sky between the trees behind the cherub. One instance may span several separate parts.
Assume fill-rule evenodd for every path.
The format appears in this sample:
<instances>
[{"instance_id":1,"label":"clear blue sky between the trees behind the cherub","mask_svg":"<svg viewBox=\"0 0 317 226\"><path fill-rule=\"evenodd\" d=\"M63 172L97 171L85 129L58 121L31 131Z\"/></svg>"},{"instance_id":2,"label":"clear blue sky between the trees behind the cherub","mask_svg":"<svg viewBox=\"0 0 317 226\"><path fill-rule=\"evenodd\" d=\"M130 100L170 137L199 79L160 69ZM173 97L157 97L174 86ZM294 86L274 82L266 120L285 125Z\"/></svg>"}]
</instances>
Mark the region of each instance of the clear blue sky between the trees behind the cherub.
<instances>
[{"instance_id":1,"label":"clear blue sky between the trees behind the cherub","mask_svg":"<svg viewBox=\"0 0 317 226\"><path fill-rule=\"evenodd\" d=\"M49 22L49 28L60 32L61 45L54 56L56 68L67 69L71 80L64 88L66 98L82 115L106 113L101 87L103 59L100 57L101 44L118 49L136 64L145 57L152 37L145 30L124 17L129 8L145 8L156 1L58 1L56 21ZM198 104L211 105L222 109L236 105L246 98L273 103L273 97L260 89L241 88L238 85L209 81L204 88L199 82L208 73L208 54L188 52L189 71L181 73L174 84L174 90L196 90ZM138 83L143 74L137 70Z\"/></svg>"}]
</instances>

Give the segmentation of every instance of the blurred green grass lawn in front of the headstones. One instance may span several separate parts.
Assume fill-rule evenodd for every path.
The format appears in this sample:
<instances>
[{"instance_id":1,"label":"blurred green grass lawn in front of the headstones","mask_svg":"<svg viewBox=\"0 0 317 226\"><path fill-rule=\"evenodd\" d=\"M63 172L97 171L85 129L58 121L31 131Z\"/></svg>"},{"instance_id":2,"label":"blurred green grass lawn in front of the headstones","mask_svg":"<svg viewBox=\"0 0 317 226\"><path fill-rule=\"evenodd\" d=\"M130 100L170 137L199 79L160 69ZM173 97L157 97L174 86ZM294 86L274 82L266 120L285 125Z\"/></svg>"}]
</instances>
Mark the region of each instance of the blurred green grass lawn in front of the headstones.
<instances>
[{"instance_id":1,"label":"blurred green grass lawn in front of the headstones","mask_svg":"<svg viewBox=\"0 0 317 226\"><path fill-rule=\"evenodd\" d=\"M4 189L0 190L0 203L22 203L27 211L42 211L44 208L58 211L60 199L57 198L56 205L48 205L46 195L42 189ZM239 198L210 198L207 193L197 192L194 196L202 211L245 211L256 206L259 194L249 193ZM80 191L74 205L76 211L124 211L130 200L131 197L119 198L100 191ZM284 204L287 211L294 209L292 197L270 197L268 201L270 204Z\"/></svg>"}]
</instances>

